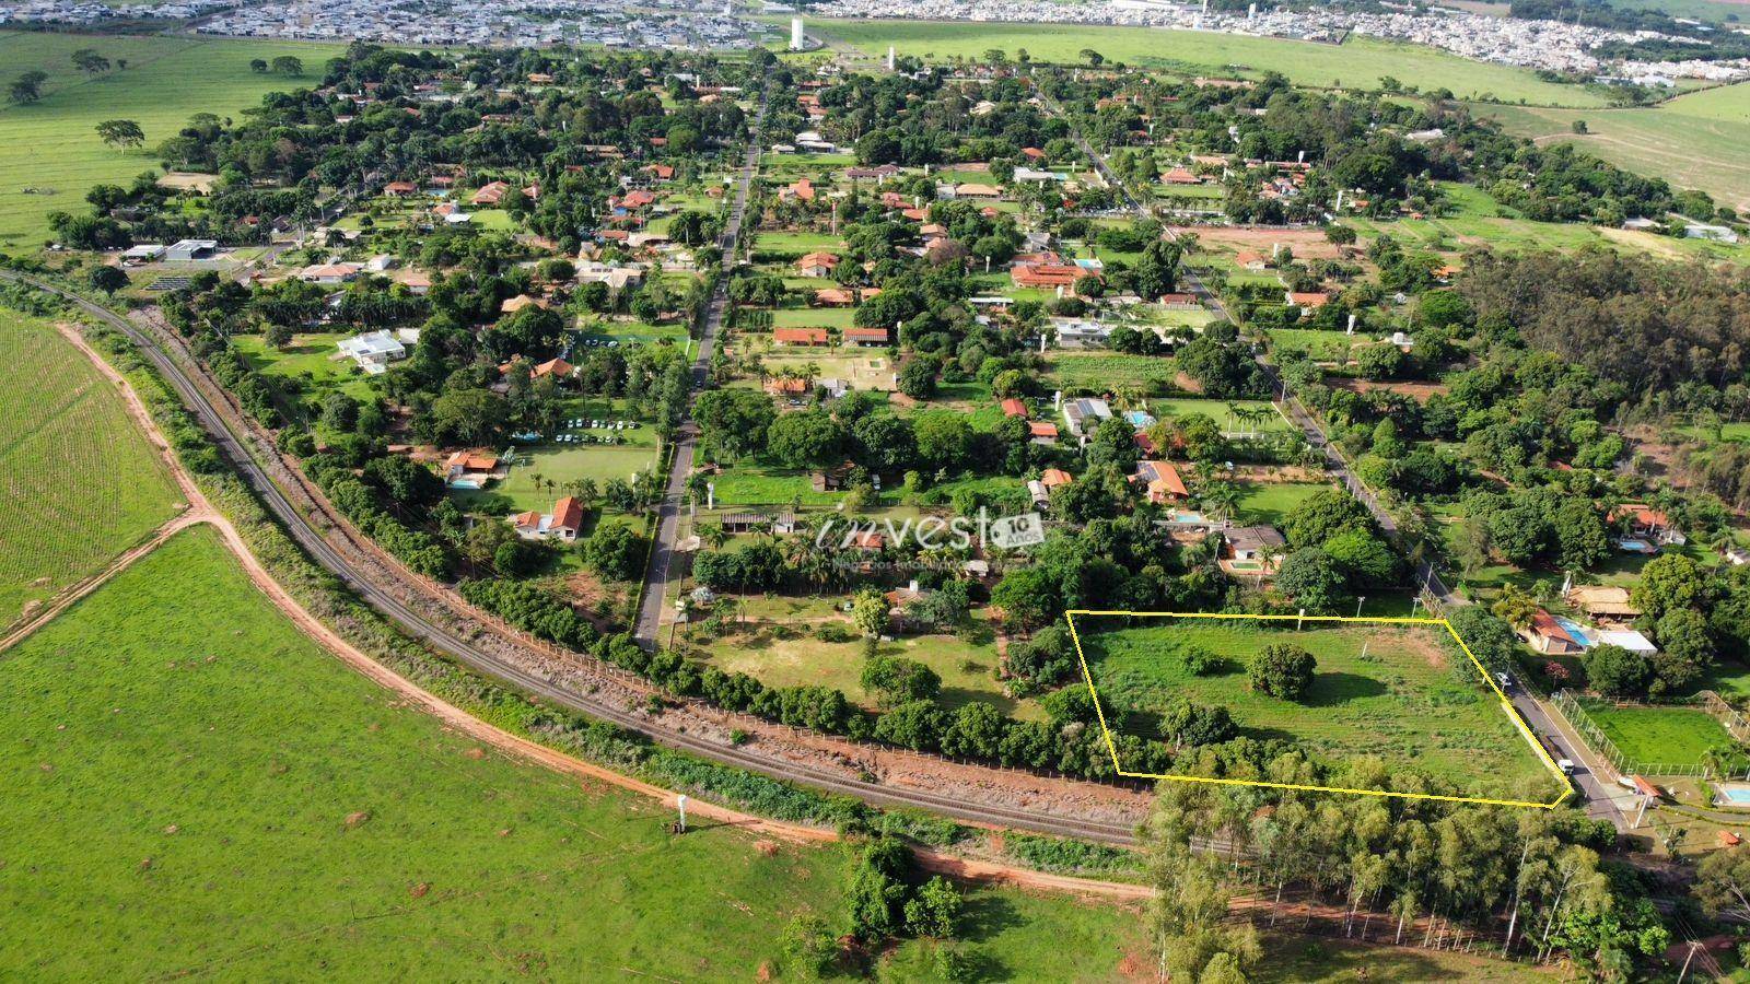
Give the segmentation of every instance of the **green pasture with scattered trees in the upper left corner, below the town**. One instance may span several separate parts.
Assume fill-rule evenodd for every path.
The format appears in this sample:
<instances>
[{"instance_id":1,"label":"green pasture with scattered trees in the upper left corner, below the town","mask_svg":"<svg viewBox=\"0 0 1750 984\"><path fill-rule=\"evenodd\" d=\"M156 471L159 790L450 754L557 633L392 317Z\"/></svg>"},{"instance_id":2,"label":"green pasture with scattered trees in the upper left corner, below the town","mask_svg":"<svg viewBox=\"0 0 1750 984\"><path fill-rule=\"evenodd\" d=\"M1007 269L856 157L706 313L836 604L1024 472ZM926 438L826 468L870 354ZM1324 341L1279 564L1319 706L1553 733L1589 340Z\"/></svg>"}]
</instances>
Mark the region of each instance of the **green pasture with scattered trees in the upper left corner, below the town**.
<instances>
[{"instance_id":1,"label":"green pasture with scattered trees in the upper left corner, below the town","mask_svg":"<svg viewBox=\"0 0 1750 984\"><path fill-rule=\"evenodd\" d=\"M70 60L82 47L112 63L128 60L128 67L86 77ZM234 114L266 93L313 88L324 61L338 53L299 42L0 32L0 79L33 68L49 74L42 102L0 105L0 249L37 245L49 235L49 212L84 210L93 186L128 184L154 170L152 149L196 112ZM248 70L252 58L280 54L301 58L304 77ZM138 123L145 145L105 145L93 130L105 119Z\"/></svg>"}]
</instances>

